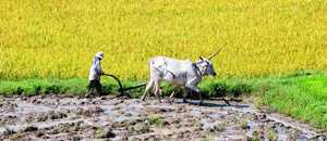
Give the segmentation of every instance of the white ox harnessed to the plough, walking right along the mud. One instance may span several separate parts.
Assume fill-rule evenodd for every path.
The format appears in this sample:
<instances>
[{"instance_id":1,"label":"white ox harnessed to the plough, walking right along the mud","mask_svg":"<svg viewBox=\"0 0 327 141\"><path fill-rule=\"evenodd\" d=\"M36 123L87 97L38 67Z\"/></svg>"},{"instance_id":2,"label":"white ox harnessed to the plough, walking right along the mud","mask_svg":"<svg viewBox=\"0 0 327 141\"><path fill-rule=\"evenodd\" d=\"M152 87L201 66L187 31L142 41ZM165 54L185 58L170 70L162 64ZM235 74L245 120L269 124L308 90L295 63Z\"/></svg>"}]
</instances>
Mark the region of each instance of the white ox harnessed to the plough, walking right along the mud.
<instances>
[{"instance_id":1,"label":"white ox harnessed to the plough, walking right along the mud","mask_svg":"<svg viewBox=\"0 0 327 141\"><path fill-rule=\"evenodd\" d=\"M201 60L193 63L190 60L175 60L166 56L157 56L149 60L150 78L145 88L142 100L144 101L147 93L152 90L159 102L161 102L160 82L162 80L180 86L184 90L183 102L186 102L187 90L198 93L202 104L203 98L197 85L204 76L216 76L213 63L208 59L199 57ZM171 95L173 97L173 94Z\"/></svg>"}]
</instances>

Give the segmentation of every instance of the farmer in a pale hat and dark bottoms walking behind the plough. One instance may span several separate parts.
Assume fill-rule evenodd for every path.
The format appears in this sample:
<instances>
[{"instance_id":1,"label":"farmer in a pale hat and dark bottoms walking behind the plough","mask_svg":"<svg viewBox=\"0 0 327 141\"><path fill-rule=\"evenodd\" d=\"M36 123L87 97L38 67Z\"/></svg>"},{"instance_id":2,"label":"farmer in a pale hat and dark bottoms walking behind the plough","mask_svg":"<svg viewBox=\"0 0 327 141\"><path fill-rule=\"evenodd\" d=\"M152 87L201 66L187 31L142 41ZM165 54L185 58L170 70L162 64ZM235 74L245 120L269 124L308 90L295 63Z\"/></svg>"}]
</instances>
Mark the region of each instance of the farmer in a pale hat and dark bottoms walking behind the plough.
<instances>
[{"instance_id":1,"label":"farmer in a pale hat and dark bottoms walking behind the plough","mask_svg":"<svg viewBox=\"0 0 327 141\"><path fill-rule=\"evenodd\" d=\"M102 94L101 75L104 75L105 73L102 72L100 62L104 57L104 52L96 53L94 57L93 64L89 69L89 86L87 89L86 98Z\"/></svg>"}]
</instances>

